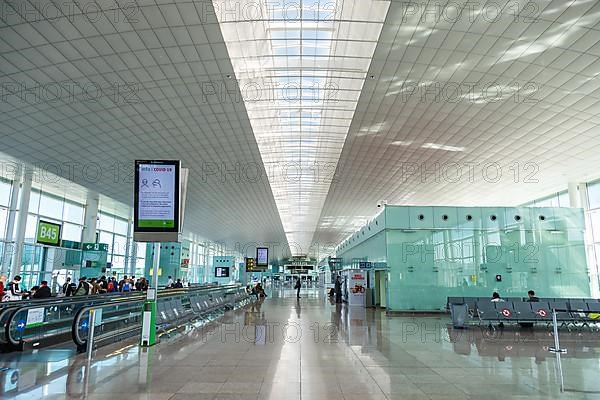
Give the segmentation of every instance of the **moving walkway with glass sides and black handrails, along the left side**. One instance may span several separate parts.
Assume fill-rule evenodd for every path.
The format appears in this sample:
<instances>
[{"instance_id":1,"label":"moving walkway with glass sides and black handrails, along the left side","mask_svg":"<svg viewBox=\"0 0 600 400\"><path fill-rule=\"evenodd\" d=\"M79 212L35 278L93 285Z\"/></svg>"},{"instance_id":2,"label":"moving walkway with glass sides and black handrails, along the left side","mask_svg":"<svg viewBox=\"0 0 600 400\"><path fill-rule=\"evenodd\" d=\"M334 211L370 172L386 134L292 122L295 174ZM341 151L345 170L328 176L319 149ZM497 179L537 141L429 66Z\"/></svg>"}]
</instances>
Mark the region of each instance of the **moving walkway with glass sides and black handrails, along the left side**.
<instances>
[{"instance_id":1,"label":"moving walkway with glass sides and black handrails, along the left side","mask_svg":"<svg viewBox=\"0 0 600 400\"><path fill-rule=\"evenodd\" d=\"M0 308L0 350L37 349L72 341L85 350L90 310L96 311L96 346L140 334L146 294L62 297L6 303ZM159 334L169 334L190 321L218 318L228 309L250 302L239 285L160 290Z\"/></svg>"}]
</instances>

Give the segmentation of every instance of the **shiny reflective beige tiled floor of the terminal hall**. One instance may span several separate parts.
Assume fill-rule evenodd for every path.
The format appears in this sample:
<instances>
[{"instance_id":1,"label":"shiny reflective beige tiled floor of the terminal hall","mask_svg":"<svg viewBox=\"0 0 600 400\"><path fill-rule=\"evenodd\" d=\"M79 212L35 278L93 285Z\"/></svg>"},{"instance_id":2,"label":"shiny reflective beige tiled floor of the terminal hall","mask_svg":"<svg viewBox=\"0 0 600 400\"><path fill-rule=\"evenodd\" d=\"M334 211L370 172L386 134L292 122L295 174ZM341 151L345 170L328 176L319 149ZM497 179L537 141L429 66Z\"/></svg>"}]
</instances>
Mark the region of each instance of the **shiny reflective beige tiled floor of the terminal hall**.
<instances>
[{"instance_id":1,"label":"shiny reflective beige tiled floor of the terminal hall","mask_svg":"<svg viewBox=\"0 0 600 400\"><path fill-rule=\"evenodd\" d=\"M144 350L0 354L2 399L600 399L600 334L454 331L447 317L386 317L319 290L264 302Z\"/></svg>"}]
</instances>

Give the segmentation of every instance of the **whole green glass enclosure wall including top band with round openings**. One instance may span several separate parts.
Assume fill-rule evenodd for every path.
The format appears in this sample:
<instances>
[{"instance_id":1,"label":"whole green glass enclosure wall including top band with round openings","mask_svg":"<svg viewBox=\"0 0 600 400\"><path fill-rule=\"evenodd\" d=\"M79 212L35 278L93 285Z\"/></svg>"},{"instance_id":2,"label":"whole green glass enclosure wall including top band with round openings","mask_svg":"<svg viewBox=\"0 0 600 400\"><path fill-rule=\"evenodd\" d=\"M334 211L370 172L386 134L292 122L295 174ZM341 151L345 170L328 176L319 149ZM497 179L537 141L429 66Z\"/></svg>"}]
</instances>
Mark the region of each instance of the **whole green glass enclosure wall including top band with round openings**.
<instances>
[{"instance_id":1,"label":"whole green glass enclosure wall including top band with round openings","mask_svg":"<svg viewBox=\"0 0 600 400\"><path fill-rule=\"evenodd\" d=\"M391 310L441 310L448 296L494 291L590 296L582 210L388 206L382 214L381 232L363 228L337 254L344 264L387 262Z\"/></svg>"}]
</instances>

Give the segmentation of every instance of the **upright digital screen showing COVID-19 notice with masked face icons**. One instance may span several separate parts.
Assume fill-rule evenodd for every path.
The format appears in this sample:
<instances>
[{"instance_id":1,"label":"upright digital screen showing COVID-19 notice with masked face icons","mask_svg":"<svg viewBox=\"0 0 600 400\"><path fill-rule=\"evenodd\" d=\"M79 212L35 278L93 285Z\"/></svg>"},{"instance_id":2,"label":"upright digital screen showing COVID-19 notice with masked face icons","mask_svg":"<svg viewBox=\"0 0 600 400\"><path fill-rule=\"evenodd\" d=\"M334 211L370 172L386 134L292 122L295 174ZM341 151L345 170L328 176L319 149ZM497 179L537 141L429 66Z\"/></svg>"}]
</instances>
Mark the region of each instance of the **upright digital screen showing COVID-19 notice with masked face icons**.
<instances>
[{"instance_id":1,"label":"upright digital screen showing COVID-19 notice with masked face icons","mask_svg":"<svg viewBox=\"0 0 600 400\"><path fill-rule=\"evenodd\" d=\"M179 231L179 161L135 162L135 230Z\"/></svg>"}]
</instances>

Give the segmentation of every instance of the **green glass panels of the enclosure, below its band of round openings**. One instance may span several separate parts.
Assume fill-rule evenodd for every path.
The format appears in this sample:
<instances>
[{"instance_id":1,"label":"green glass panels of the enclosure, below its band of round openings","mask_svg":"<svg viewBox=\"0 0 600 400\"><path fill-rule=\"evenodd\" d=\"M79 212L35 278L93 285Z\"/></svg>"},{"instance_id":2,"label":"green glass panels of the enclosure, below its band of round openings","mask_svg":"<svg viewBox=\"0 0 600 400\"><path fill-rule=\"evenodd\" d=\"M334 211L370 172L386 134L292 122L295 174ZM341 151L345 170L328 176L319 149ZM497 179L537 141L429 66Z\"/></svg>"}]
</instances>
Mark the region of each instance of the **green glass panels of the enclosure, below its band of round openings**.
<instances>
[{"instance_id":1,"label":"green glass panels of the enclosure, below its band of round openings","mask_svg":"<svg viewBox=\"0 0 600 400\"><path fill-rule=\"evenodd\" d=\"M385 259L391 310L443 310L449 296L494 291L503 297L525 297L530 289L540 297L589 297L584 221L570 211L554 210L570 229L386 229L337 256L346 266L352 259Z\"/></svg>"}]
</instances>

